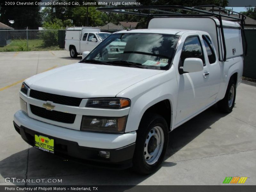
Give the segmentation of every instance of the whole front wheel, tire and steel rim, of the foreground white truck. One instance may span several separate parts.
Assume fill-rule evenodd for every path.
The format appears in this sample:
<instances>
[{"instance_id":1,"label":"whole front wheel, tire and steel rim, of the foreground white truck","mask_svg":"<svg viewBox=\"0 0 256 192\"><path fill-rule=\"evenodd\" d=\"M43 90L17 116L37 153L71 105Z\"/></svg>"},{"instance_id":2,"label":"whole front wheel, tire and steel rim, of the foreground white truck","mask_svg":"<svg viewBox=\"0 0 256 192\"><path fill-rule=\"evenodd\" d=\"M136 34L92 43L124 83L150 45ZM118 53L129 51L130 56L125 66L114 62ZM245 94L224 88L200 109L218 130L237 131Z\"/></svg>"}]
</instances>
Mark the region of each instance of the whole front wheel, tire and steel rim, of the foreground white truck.
<instances>
[{"instance_id":1,"label":"whole front wheel, tire and steel rim, of the foreground white truck","mask_svg":"<svg viewBox=\"0 0 256 192\"><path fill-rule=\"evenodd\" d=\"M140 174L155 172L164 160L168 139L168 126L162 116L143 117L137 130L133 170Z\"/></svg>"}]
</instances>

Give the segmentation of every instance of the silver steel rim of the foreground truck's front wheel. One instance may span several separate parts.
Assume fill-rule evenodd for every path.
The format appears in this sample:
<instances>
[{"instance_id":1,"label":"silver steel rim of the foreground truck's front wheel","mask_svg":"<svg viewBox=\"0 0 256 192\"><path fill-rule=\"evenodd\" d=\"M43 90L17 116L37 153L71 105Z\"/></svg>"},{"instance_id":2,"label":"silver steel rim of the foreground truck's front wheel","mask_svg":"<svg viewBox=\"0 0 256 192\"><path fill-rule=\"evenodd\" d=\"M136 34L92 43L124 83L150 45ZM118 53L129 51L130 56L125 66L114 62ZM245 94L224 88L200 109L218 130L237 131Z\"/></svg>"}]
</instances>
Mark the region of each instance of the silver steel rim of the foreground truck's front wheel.
<instances>
[{"instance_id":1,"label":"silver steel rim of the foreground truck's front wheel","mask_svg":"<svg viewBox=\"0 0 256 192\"><path fill-rule=\"evenodd\" d=\"M160 126L153 127L144 144L144 158L147 164L156 163L164 148L164 131ZM153 151L152 151L153 150Z\"/></svg>"}]
</instances>

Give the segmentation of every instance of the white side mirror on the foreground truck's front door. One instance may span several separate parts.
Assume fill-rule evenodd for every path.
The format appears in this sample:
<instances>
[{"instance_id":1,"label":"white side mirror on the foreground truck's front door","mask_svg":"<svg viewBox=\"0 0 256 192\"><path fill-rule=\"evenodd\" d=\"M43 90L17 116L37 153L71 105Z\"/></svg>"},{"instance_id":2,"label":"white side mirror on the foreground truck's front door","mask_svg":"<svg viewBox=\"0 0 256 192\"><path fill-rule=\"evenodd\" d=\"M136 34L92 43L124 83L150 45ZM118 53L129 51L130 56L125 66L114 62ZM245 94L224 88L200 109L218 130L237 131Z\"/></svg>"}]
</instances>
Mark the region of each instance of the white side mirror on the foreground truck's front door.
<instances>
[{"instance_id":1,"label":"white side mirror on the foreground truck's front door","mask_svg":"<svg viewBox=\"0 0 256 192\"><path fill-rule=\"evenodd\" d=\"M187 58L184 60L183 63L183 71L192 73L192 72L198 72L203 71L204 64L203 61L199 58Z\"/></svg>"}]
</instances>

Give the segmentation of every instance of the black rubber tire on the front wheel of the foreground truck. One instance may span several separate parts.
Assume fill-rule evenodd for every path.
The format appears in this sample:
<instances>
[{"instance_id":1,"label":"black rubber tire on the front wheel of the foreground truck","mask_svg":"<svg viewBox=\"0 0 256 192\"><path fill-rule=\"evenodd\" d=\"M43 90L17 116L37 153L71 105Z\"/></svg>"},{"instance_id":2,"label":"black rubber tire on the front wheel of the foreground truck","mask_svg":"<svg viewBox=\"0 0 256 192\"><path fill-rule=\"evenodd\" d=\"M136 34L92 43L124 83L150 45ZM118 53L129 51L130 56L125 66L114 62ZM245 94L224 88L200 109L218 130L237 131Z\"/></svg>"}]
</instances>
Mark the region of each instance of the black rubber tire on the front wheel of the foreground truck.
<instances>
[{"instance_id":1,"label":"black rubber tire on the front wheel of the foreground truck","mask_svg":"<svg viewBox=\"0 0 256 192\"><path fill-rule=\"evenodd\" d=\"M148 164L147 163L148 160L146 161L146 159L145 159L145 158L147 158L146 157L147 153L145 152L145 150L147 150L148 154L150 154L149 149L152 151L152 148L149 148L149 147L153 146L153 148L154 148L156 144L154 143L155 141L153 141L154 144L150 145L149 143L151 142L150 141L151 139L148 139L147 137L148 137L149 132L151 132L151 130L153 128L154 128L153 131L155 131L156 127L157 127L157 129L159 129L159 127L160 127L163 131L162 132L163 133L162 138L164 138L163 148L162 148L161 153L160 152L157 153L158 154L157 156L159 156L159 157L155 158L156 162L153 163L154 161L152 161L153 164ZM153 136L151 136L150 138L153 138ZM148 140L148 146L146 144L146 140ZM153 140L156 140L156 139L153 138ZM159 116L157 114L148 114L148 115L144 116L140 122L139 129L137 130L136 147L135 147L135 151L134 151L134 155L133 155L133 159L132 159L133 171L143 174L143 175L146 175L146 174L150 174L150 173L153 173L156 170L158 170L158 168L160 167L160 165L162 164L162 162L164 160L164 155L165 155L166 149L168 147L168 140L169 140L169 131L168 131L168 126L167 126L165 119L162 116ZM156 148L153 149L153 152L155 152ZM151 152L151 154L153 152ZM149 159L149 160L151 160L151 159Z\"/></svg>"}]
</instances>

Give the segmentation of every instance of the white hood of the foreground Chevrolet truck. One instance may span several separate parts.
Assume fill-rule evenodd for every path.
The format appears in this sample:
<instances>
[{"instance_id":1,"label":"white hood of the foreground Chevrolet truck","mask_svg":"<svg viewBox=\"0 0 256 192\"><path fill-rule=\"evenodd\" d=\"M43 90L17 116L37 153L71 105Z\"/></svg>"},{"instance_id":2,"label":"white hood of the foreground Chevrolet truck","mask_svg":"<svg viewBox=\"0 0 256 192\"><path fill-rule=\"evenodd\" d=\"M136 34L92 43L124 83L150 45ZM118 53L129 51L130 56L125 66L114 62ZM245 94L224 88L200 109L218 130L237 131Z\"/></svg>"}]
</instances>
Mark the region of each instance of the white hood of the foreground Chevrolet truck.
<instances>
[{"instance_id":1,"label":"white hood of the foreground Chevrolet truck","mask_svg":"<svg viewBox=\"0 0 256 192\"><path fill-rule=\"evenodd\" d=\"M78 98L115 97L127 87L163 70L75 63L28 78L37 91Z\"/></svg>"}]
</instances>

